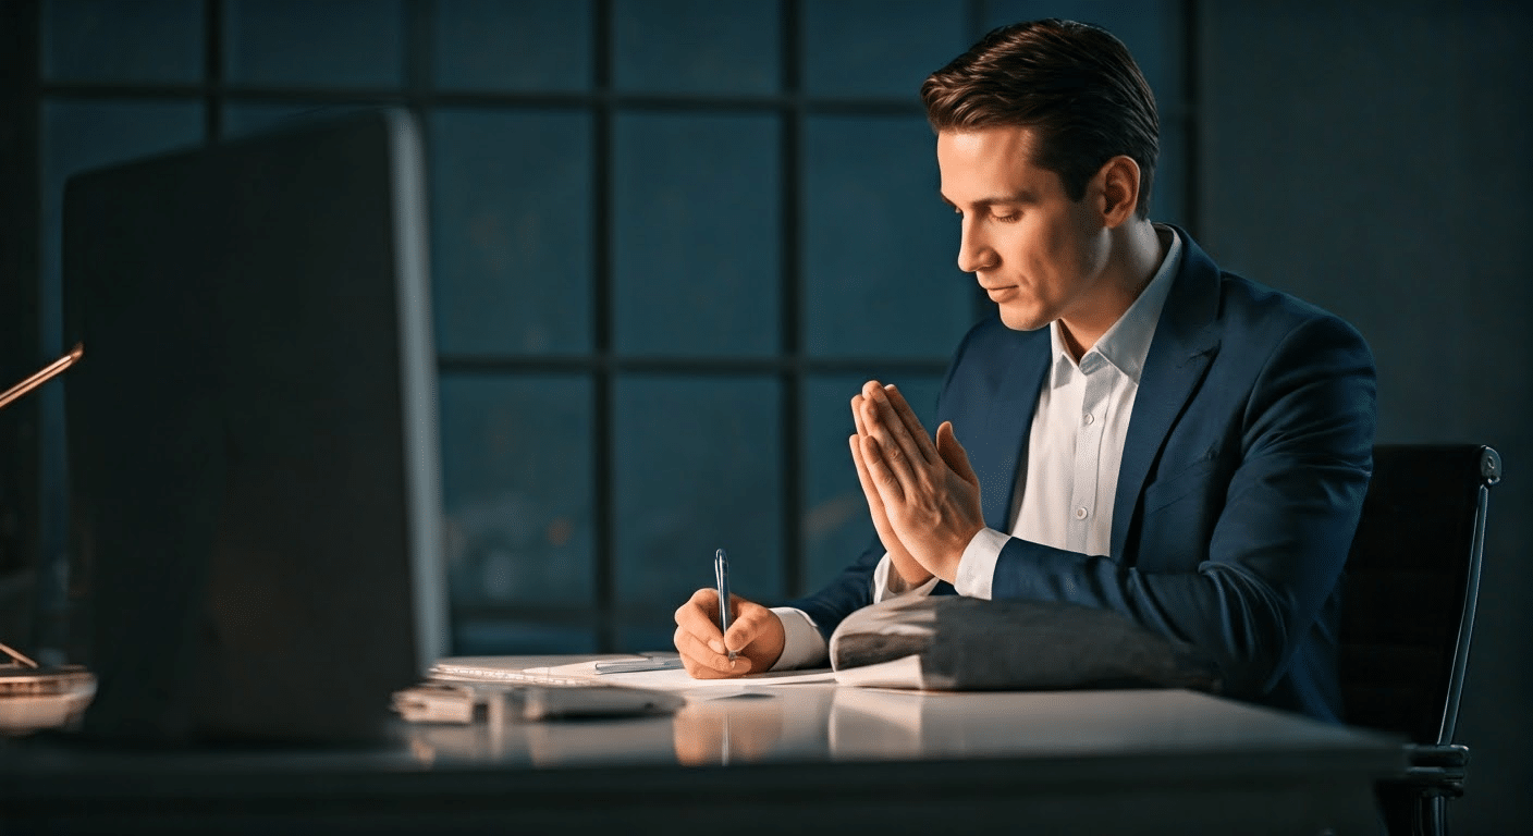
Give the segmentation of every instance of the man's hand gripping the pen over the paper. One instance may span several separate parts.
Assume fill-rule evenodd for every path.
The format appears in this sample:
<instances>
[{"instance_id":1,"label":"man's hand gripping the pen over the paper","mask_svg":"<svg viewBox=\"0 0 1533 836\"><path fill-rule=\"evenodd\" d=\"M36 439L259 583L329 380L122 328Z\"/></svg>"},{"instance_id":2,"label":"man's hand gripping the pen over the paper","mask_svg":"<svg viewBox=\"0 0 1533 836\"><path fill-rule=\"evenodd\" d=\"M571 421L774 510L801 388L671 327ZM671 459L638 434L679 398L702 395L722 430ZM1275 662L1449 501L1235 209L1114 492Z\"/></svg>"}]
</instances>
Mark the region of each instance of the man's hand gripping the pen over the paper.
<instances>
[{"instance_id":1,"label":"man's hand gripping the pen over the paper","mask_svg":"<svg viewBox=\"0 0 1533 836\"><path fill-rule=\"evenodd\" d=\"M777 614L730 595L730 635L719 634L719 591L702 588L676 611L676 652L694 680L722 680L771 670L786 641ZM736 652L730 663L728 652Z\"/></svg>"}]
</instances>

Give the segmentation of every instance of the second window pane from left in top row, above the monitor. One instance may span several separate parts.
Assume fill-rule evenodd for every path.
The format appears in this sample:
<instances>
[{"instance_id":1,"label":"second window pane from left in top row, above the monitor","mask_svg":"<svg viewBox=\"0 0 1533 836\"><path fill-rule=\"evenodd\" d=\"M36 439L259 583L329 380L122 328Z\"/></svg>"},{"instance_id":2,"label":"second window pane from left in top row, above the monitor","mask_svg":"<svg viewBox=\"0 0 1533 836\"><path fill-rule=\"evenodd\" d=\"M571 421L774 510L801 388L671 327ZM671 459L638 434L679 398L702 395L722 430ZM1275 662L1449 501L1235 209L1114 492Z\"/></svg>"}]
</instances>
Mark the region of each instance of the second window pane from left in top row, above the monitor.
<instances>
[{"instance_id":1,"label":"second window pane from left in top row, above the monitor","mask_svg":"<svg viewBox=\"0 0 1533 836\"><path fill-rule=\"evenodd\" d=\"M400 0L228 0L225 14L224 72L236 84L405 80Z\"/></svg>"}]
</instances>

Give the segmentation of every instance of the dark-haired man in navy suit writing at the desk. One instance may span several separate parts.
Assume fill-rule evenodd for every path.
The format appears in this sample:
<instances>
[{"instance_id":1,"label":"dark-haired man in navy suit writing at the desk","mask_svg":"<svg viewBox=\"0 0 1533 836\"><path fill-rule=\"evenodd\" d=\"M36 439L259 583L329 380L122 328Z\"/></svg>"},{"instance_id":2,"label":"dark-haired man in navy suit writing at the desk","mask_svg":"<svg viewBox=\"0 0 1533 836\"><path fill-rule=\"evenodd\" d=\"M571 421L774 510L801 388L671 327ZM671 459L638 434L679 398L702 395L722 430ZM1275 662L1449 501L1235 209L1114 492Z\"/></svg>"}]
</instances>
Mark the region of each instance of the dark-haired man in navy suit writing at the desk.
<instances>
[{"instance_id":1,"label":"dark-haired man in navy suit writing at the desk","mask_svg":"<svg viewBox=\"0 0 1533 836\"><path fill-rule=\"evenodd\" d=\"M854 609L957 592L1118 611L1211 655L1226 693L1337 719L1375 423L1363 339L1150 222L1159 123L1110 34L1003 28L921 97L958 265L1000 318L960 344L935 440L895 387L852 397L877 543L788 607L733 601L727 637L698 591L676 612L687 669L823 664Z\"/></svg>"}]
</instances>

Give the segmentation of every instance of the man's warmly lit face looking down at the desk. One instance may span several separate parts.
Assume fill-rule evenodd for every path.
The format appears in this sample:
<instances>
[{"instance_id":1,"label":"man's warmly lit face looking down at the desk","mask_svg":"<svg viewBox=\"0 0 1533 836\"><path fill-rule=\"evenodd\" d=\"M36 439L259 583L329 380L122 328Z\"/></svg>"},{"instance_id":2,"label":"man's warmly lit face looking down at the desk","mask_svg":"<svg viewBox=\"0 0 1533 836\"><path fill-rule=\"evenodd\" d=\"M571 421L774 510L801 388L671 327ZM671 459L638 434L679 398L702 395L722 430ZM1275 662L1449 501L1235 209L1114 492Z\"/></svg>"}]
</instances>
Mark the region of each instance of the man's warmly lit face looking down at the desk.
<instances>
[{"instance_id":1,"label":"man's warmly lit face looking down at the desk","mask_svg":"<svg viewBox=\"0 0 1533 836\"><path fill-rule=\"evenodd\" d=\"M1033 164L1033 132L986 127L937 135L943 199L963 216L958 268L973 273L1009 328L1088 322L1107 299L1107 227L1095 181L1075 202Z\"/></svg>"}]
</instances>

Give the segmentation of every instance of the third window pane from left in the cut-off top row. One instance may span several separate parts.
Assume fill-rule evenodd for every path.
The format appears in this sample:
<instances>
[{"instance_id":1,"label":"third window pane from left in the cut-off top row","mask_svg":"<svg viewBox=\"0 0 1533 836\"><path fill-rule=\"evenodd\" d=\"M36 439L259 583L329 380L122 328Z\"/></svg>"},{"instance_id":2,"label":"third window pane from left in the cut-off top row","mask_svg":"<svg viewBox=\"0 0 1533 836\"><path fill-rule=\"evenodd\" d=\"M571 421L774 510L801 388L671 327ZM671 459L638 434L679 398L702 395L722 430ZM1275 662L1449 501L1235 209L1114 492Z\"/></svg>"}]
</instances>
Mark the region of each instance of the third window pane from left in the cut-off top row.
<instances>
[{"instance_id":1,"label":"third window pane from left in the cut-off top row","mask_svg":"<svg viewBox=\"0 0 1533 836\"><path fill-rule=\"evenodd\" d=\"M589 2L437 0L437 87L584 91L590 35Z\"/></svg>"}]
</instances>

